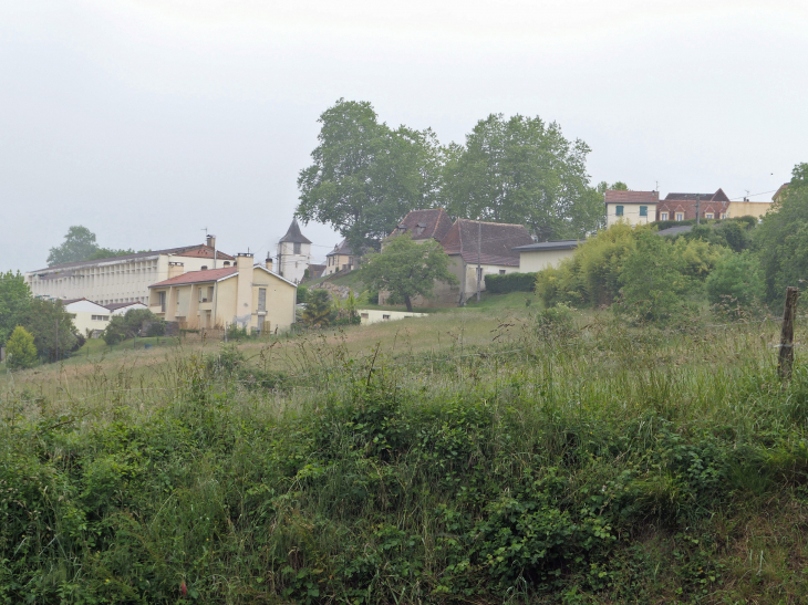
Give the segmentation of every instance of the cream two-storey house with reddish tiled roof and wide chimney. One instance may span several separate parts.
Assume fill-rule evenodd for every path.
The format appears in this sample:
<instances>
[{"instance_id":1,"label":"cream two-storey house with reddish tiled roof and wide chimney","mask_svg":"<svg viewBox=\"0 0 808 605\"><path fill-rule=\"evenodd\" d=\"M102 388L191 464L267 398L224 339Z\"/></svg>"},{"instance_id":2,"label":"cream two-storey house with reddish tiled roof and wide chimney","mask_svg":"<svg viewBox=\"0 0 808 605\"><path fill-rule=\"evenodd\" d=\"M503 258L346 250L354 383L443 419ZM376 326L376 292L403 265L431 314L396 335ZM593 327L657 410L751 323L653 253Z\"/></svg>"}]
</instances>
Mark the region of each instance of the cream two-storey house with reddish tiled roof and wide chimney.
<instances>
[{"instance_id":1,"label":"cream two-storey house with reddish tiled roof and wide chimney","mask_svg":"<svg viewBox=\"0 0 808 605\"><path fill-rule=\"evenodd\" d=\"M185 272L169 267L167 280L148 286L148 307L184 328L235 324L259 333L284 331L294 323L297 285L267 268L252 254L238 254L236 264Z\"/></svg>"}]
</instances>

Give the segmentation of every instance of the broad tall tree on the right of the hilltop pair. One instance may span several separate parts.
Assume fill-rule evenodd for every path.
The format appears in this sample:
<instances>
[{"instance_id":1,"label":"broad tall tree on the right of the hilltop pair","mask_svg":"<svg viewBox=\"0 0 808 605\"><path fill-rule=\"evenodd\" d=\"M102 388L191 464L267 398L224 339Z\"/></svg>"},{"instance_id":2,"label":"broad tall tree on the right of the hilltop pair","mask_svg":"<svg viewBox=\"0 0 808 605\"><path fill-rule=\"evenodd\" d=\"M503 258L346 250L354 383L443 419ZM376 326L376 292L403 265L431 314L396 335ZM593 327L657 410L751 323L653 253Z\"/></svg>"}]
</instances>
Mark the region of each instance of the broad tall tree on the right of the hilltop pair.
<instances>
[{"instance_id":1,"label":"broad tall tree on the right of the hilltop pair","mask_svg":"<svg viewBox=\"0 0 808 605\"><path fill-rule=\"evenodd\" d=\"M526 225L540 240L583 238L604 222L603 198L586 169L589 152L555 122L491 114L447 161L449 213Z\"/></svg>"}]
</instances>

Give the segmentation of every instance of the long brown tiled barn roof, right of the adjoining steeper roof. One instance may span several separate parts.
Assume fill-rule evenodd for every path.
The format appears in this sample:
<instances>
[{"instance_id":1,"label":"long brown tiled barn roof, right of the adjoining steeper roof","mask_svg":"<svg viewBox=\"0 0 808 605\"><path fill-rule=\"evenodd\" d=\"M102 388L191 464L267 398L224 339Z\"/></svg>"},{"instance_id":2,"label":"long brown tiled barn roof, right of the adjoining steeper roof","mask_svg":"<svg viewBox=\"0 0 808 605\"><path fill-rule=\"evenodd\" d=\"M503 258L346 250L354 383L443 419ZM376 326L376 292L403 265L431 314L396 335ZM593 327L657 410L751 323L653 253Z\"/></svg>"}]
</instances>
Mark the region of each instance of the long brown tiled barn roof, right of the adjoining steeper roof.
<instances>
[{"instance_id":1,"label":"long brown tiled barn roof, right of the adjoining steeper roof","mask_svg":"<svg viewBox=\"0 0 808 605\"><path fill-rule=\"evenodd\" d=\"M519 267L514 248L534 243L521 225L457 219L441 240L447 254L459 254L467 263Z\"/></svg>"}]
</instances>

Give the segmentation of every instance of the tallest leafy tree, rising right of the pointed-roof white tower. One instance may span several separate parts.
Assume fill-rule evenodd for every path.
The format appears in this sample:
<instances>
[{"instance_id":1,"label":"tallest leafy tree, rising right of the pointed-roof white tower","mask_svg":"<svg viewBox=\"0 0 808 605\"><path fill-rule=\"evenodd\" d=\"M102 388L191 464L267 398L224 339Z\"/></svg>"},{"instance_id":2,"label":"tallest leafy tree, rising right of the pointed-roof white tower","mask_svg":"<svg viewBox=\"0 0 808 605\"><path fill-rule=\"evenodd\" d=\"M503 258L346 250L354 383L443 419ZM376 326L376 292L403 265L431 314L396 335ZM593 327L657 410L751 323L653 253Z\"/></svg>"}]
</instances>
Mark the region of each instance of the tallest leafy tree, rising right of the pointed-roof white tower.
<instances>
[{"instance_id":1,"label":"tallest leafy tree, rising right of the pointed-roof white tower","mask_svg":"<svg viewBox=\"0 0 808 605\"><path fill-rule=\"evenodd\" d=\"M344 98L319 122L313 163L298 178L301 220L330 225L361 253L410 210L436 204L444 150L432 131L391 129L370 103Z\"/></svg>"}]
</instances>

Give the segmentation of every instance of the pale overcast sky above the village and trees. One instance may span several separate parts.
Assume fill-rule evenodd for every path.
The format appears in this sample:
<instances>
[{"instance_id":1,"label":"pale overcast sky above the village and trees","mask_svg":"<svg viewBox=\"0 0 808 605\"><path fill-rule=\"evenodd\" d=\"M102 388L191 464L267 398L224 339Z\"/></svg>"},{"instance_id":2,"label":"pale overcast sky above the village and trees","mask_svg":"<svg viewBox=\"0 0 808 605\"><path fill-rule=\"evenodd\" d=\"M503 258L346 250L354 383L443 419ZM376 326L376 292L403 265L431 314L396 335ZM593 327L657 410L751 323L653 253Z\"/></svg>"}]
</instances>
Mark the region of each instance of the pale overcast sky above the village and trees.
<instances>
[{"instance_id":1,"label":"pale overcast sky above the village and trees","mask_svg":"<svg viewBox=\"0 0 808 605\"><path fill-rule=\"evenodd\" d=\"M0 271L72 225L274 255L341 97L443 143L540 116L593 182L768 200L808 161L806 31L805 0L0 0Z\"/></svg>"}]
</instances>

